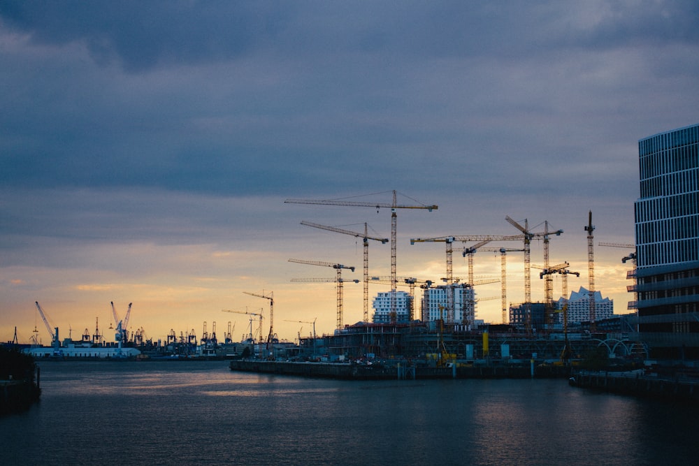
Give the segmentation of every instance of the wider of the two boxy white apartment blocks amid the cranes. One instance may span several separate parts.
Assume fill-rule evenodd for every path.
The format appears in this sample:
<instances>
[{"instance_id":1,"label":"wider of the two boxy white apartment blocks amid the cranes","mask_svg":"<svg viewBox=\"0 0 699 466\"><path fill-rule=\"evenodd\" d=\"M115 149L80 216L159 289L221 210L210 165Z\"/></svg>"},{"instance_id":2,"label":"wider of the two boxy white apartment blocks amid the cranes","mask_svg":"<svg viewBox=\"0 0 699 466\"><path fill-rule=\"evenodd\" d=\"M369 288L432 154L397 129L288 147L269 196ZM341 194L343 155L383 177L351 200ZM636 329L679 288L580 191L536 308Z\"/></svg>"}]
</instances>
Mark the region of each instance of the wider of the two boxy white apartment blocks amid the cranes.
<instances>
[{"instance_id":1,"label":"wider of the two boxy white apartment blocks amid the cranes","mask_svg":"<svg viewBox=\"0 0 699 466\"><path fill-rule=\"evenodd\" d=\"M453 293L450 298L448 293ZM475 295L473 288L464 284L428 288L422 296L422 319L426 322L443 319L447 323L475 322Z\"/></svg>"}]
</instances>

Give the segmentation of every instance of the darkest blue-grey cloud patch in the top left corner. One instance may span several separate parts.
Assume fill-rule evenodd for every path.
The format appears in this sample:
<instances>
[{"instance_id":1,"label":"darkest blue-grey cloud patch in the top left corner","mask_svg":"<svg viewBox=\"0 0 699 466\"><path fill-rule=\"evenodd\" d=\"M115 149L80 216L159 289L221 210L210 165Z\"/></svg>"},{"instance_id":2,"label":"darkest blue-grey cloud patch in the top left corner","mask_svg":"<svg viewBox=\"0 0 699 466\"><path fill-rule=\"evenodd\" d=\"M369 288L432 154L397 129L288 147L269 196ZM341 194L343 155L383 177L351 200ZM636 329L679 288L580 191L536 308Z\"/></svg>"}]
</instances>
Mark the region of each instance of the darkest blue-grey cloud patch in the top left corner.
<instances>
[{"instance_id":1,"label":"darkest blue-grey cloud patch in the top left corner","mask_svg":"<svg viewBox=\"0 0 699 466\"><path fill-rule=\"evenodd\" d=\"M85 43L102 64L137 72L160 63L240 57L277 34L288 9L271 2L7 1L6 22L40 44Z\"/></svg>"}]
</instances>

